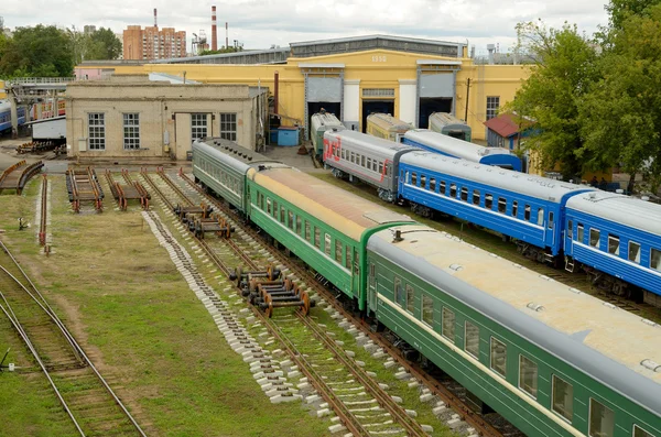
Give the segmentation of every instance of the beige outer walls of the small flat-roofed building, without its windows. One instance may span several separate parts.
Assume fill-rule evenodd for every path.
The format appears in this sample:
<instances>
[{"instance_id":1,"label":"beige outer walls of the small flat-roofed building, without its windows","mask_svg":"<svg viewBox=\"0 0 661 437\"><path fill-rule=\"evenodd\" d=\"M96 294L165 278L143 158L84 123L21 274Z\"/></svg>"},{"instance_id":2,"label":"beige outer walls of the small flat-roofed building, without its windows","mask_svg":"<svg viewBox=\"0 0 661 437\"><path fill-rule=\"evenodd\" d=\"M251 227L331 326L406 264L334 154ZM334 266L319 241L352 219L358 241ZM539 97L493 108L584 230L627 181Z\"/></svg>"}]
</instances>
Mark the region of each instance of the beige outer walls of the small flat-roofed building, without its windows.
<instances>
[{"instance_id":1,"label":"beige outer walls of the small flat-roofed building, without its windows","mask_svg":"<svg viewBox=\"0 0 661 437\"><path fill-rule=\"evenodd\" d=\"M237 114L237 142L254 149L258 106L266 120L264 99L246 85L170 85L144 77L75 83L67 87L67 154L78 159L134 157L143 161L185 160L191 150L191 114L207 113L207 134L220 135L220 113ZM261 103L258 103L260 100ZM105 114L106 149L89 150L88 113ZM123 149L123 113L139 113L140 149Z\"/></svg>"}]
</instances>

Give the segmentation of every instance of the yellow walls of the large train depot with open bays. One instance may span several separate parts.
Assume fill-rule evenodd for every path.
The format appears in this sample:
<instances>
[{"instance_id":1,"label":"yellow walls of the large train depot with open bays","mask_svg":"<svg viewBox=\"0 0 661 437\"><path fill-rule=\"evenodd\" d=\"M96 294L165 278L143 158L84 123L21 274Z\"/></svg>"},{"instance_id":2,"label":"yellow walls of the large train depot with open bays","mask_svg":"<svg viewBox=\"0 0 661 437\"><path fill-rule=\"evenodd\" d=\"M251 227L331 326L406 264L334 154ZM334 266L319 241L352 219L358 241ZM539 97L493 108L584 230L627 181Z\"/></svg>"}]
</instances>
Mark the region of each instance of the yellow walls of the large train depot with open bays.
<instances>
[{"instance_id":1,"label":"yellow walls of the large train depot with open bays","mask_svg":"<svg viewBox=\"0 0 661 437\"><path fill-rule=\"evenodd\" d=\"M345 81L359 80L359 108L362 108L364 88L393 88L394 113L400 114L400 80L414 81L418 74L419 59L462 61L462 68L456 78L455 112L460 119L466 113L466 86L470 78L468 98L468 124L473 129L473 138L484 140L486 129L486 101L489 96L499 96L500 106L511 100L529 70L523 66L511 65L474 65L470 58L449 58L442 56L402 53L386 50L345 53L311 58L289 58L281 65L201 65L201 64L145 64L120 65L115 67L116 74L166 73L187 79L214 84L247 84L269 87L273 92L273 75L279 72L279 108L278 112L304 124L305 89L304 75L299 64L344 64ZM104 68L104 66L86 65L77 68ZM108 68L107 66L105 68ZM346 100L346 99L345 99ZM345 110L346 113L346 110ZM344 118L344 114L343 114ZM354 120L350 120L354 121ZM410 121L405 120L404 121ZM284 124L293 121L283 119Z\"/></svg>"}]
</instances>

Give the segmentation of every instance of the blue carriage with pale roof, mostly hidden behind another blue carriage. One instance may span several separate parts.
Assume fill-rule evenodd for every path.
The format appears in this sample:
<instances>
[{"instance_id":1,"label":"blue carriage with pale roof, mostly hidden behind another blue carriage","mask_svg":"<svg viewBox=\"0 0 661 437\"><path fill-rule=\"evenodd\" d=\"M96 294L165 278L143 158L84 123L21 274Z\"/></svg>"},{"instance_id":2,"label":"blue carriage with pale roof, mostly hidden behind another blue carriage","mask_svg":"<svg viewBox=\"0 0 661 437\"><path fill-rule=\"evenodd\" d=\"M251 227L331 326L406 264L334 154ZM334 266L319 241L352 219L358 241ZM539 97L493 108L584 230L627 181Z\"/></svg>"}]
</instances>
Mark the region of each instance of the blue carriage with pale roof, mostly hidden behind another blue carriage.
<instances>
[{"instance_id":1,"label":"blue carriage with pale roof, mostly hidden behind another blue carriage","mask_svg":"<svg viewBox=\"0 0 661 437\"><path fill-rule=\"evenodd\" d=\"M521 172L521 160L507 149L486 148L427 129L408 131L403 142L442 155Z\"/></svg>"}]
</instances>

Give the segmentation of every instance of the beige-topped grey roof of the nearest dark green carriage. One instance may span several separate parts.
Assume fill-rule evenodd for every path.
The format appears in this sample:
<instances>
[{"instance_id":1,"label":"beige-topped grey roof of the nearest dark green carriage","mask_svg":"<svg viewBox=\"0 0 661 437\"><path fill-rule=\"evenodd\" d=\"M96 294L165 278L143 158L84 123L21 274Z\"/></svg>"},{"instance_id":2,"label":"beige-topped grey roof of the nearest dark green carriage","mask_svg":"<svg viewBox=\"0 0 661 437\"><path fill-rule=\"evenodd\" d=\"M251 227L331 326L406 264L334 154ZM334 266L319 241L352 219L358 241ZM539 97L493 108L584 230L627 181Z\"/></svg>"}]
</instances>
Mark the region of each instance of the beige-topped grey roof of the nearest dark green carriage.
<instances>
[{"instance_id":1,"label":"beige-topped grey roof of the nearest dark green carriage","mask_svg":"<svg viewBox=\"0 0 661 437\"><path fill-rule=\"evenodd\" d=\"M368 249L661 414L659 325L420 225L379 231Z\"/></svg>"}]
</instances>

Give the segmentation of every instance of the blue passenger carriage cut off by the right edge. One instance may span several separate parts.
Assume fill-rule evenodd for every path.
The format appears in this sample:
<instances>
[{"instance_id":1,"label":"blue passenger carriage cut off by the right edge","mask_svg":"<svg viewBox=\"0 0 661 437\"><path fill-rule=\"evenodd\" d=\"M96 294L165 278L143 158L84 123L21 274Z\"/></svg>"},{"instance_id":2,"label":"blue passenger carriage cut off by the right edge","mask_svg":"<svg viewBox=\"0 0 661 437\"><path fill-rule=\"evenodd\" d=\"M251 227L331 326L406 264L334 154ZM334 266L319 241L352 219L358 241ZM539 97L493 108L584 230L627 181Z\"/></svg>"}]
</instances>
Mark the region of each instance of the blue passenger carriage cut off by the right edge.
<instances>
[{"instance_id":1,"label":"blue passenger carriage cut off by the right edge","mask_svg":"<svg viewBox=\"0 0 661 437\"><path fill-rule=\"evenodd\" d=\"M615 276L616 293L639 286L646 301L661 294L661 206L607 192L590 192L567 201L565 253L568 265L582 263ZM618 281L620 280L620 281ZM649 294L652 294L650 296Z\"/></svg>"}]
</instances>

